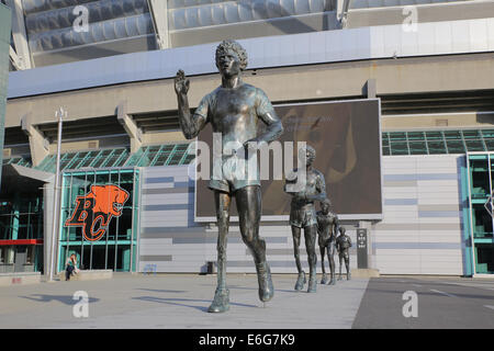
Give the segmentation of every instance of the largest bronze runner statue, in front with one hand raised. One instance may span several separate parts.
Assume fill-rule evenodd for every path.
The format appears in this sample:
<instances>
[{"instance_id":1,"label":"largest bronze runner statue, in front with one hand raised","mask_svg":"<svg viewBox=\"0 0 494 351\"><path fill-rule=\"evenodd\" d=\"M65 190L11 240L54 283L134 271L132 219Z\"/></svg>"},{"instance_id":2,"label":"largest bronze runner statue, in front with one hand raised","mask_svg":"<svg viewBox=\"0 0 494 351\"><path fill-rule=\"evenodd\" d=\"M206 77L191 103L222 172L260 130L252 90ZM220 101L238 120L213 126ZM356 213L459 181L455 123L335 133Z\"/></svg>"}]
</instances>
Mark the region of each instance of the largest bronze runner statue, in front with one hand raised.
<instances>
[{"instance_id":1,"label":"largest bronze runner statue, in front with one hand raised","mask_svg":"<svg viewBox=\"0 0 494 351\"><path fill-rule=\"evenodd\" d=\"M225 152L232 143L243 145L245 155L257 152L260 144L278 139L283 127L268 97L256 87L242 80L242 71L247 67L245 49L234 41L222 42L216 48L216 67L222 76L222 84L206 94L191 115L187 93L189 79L179 70L175 79L178 99L180 127L188 139L194 138L206 123L213 133L221 133L223 152L220 160L213 160L213 177L209 188L214 191L217 237L217 287L209 312L221 313L229 308L229 291L226 286L226 235L229 226L229 205L235 196L242 238L252 253L259 283L259 298L268 302L274 294L271 272L266 262L266 242L259 237L261 217L261 191L257 163L254 174L235 177L232 168L238 165L237 155ZM258 135L259 121L267 125ZM249 143L251 141L251 143ZM221 174L220 178L214 177Z\"/></svg>"}]
</instances>

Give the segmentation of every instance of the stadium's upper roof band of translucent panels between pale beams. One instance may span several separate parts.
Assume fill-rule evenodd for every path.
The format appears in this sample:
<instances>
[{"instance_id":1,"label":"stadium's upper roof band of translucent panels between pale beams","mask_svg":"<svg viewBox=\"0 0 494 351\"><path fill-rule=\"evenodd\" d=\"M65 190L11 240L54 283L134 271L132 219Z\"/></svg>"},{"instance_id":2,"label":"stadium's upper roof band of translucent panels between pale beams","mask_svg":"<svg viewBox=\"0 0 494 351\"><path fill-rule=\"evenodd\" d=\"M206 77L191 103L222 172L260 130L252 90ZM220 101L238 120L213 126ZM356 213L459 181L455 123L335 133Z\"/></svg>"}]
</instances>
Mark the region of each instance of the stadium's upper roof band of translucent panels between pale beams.
<instances>
[{"instance_id":1,"label":"stadium's upper roof band of translucent panels between pale beams","mask_svg":"<svg viewBox=\"0 0 494 351\"><path fill-rule=\"evenodd\" d=\"M0 0L13 9L11 70L220 42L494 18L485 0ZM409 12L412 13L412 12Z\"/></svg>"}]
</instances>

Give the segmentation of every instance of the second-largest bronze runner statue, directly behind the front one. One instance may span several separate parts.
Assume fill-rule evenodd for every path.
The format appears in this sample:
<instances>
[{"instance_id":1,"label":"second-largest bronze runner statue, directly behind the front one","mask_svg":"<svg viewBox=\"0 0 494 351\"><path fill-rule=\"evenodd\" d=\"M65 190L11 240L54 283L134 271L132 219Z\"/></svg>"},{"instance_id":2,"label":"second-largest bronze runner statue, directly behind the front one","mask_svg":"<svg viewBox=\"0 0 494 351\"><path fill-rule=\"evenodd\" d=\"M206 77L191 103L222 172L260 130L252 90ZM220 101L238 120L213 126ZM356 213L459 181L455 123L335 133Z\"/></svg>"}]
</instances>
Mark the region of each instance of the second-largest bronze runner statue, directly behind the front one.
<instances>
[{"instance_id":1,"label":"second-largest bronze runner statue, directly behind the front one","mask_svg":"<svg viewBox=\"0 0 494 351\"><path fill-rule=\"evenodd\" d=\"M313 147L306 146L305 150L306 159L306 179L305 186L297 192L289 192L288 185L296 181L297 169L287 178L287 184L284 191L292 195L292 202L290 207L290 225L292 227L293 236L293 250L295 256L296 270L299 271L299 278L295 283L295 290L302 290L306 282L305 272L302 270L300 263L300 237L301 231L304 229L305 249L308 256L308 287L307 293L315 293L317 279L316 279L316 264L317 254L315 253L315 241L317 236L317 216L315 212L314 202L324 201L326 199L326 183L324 181L324 174L312 167L316 152ZM302 155L299 155L299 163Z\"/></svg>"}]
</instances>

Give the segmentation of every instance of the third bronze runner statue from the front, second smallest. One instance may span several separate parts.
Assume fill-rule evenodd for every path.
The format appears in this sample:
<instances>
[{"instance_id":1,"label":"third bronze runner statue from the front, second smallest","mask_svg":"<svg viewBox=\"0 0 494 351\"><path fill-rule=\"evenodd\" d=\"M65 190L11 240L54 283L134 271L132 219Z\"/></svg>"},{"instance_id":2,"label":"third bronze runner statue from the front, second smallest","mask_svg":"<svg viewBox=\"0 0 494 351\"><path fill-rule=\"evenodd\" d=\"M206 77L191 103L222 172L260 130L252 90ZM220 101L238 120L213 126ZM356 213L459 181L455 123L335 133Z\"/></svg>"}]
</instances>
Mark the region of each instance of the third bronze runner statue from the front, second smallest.
<instances>
[{"instance_id":1,"label":"third bronze runner statue from the front, second smallest","mask_svg":"<svg viewBox=\"0 0 494 351\"><path fill-rule=\"evenodd\" d=\"M335 251L336 236L338 235L338 216L330 211L332 202L325 199L321 203L321 211L317 212L317 234L321 250L321 267L323 268L323 279L321 284L327 283L326 268L324 267L324 253L327 251L327 260L329 261L330 281L329 285L334 285L335 281Z\"/></svg>"}]
</instances>

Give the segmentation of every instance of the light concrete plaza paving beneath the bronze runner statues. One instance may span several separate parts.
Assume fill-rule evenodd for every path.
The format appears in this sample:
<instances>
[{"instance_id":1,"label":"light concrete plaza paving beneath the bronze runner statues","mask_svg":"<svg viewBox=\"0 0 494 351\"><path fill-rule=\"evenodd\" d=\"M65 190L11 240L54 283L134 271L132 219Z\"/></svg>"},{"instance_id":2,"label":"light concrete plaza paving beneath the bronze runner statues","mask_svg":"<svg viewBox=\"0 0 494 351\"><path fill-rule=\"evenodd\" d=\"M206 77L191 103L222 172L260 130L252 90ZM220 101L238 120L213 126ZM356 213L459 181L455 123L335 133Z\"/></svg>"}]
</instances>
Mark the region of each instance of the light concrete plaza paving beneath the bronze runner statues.
<instances>
[{"instance_id":1,"label":"light concrete plaza paving beneath the bronze runner statues","mask_svg":"<svg viewBox=\"0 0 494 351\"><path fill-rule=\"evenodd\" d=\"M321 276L318 275L321 279ZM293 290L296 275L273 274L274 297L258 298L255 274L228 274L231 309L209 314L216 275L128 274L98 281L58 281L0 287L0 328L351 328L368 279ZM77 291L89 296L89 316L76 318Z\"/></svg>"}]
</instances>

